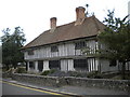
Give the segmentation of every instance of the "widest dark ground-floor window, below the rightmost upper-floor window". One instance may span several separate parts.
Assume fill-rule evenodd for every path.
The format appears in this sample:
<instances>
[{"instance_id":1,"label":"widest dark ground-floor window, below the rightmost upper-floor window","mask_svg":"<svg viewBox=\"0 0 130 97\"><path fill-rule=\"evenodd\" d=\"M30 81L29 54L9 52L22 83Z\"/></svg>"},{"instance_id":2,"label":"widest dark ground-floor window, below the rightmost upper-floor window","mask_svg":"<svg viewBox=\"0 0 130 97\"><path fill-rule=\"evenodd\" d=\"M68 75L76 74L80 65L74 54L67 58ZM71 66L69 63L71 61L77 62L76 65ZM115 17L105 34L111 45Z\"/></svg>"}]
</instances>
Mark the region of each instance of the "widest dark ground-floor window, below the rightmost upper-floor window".
<instances>
[{"instance_id":1,"label":"widest dark ground-floor window, below the rightmost upper-floor window","mask_svg":"<svg viewBox=\"0 0 130 97\"><path fill-rule=\"evenodd\" d=\"M74 59L74 68L88 69L87 59Z\"/></svg>"}]
</instances>

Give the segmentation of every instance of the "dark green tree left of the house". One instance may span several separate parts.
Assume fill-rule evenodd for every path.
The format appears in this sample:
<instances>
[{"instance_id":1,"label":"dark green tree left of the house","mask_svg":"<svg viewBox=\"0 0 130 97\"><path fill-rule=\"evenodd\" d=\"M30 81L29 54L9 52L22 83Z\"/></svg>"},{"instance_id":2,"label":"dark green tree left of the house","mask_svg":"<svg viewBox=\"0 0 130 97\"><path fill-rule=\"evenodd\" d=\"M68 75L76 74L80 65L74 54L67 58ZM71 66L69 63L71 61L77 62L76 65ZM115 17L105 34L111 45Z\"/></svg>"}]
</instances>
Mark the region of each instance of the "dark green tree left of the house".
<instances>
[{"instance_id":1,"label":"dark green tree left of the house","mask_svg":"<svg viewBox=\"0 0 130 97\"><path fill-rule=\"evenodd\" d=\"M10 65L16 68L17 63L22 63L24 60L24 55L20 50L26 41L25 34L21 27L15 27L12 34L9 28L3 29L2 32L2 63L8 69Z\"/></svg>"}]
</instances>

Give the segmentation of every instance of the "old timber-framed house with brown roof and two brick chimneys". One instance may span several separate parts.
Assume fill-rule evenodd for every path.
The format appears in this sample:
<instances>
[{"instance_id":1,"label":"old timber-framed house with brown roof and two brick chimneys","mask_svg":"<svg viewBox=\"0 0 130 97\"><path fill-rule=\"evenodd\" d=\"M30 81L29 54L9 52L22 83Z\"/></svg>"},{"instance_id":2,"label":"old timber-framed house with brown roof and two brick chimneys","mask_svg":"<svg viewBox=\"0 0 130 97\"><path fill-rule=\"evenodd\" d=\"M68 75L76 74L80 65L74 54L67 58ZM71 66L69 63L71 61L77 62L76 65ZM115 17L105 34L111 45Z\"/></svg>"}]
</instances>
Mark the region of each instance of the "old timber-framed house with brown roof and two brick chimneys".
<instances>
[{"instance_id":1,"label":"old timber-framed house with brown roof and two brick chimneys","mask_svg":"<svg viewBox=\"0 0 130 97\"><path fill-rule=\"evenodd\" d=\"M105 26L94 15L87 17L84 8L76 8L76 20L56 26L56 17L50 19L50 29L25 45L22 50L28 71L113 71L120 69L118 61L91 56L102 47L96 36ZM90 47L90 54L82 48ZM129 65L127 68L130 69Z\"/></svg>"}]
</instances>

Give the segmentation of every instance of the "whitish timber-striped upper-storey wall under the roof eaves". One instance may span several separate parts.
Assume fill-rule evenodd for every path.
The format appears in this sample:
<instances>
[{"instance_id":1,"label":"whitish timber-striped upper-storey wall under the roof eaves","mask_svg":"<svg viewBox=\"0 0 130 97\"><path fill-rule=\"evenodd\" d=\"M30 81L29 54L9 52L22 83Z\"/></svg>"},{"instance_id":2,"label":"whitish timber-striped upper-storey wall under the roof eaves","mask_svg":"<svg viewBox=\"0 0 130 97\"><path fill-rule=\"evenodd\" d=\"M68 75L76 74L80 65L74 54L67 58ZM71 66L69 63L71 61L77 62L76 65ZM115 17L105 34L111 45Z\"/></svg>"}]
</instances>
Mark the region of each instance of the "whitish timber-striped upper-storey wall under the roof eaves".
<instances>
[{"instance_id":1,"label":"whitish timber-striped upper-storey wall under the roof eaves","mask_svg":"<svg viewBox=\"0 0 130 97\"><path fill-rule=\"evenodd\" d=\"M86 41L87 46L92 51L90 54L95 53L96 42L94 40ZM27 52L24 53L25 59L44 59L53 57L64 57L64 56L79 56L82 55L81 50L75 50L75 43L63 43L58 44L58 52L51 52L50 46L43 46L37 50L34 50L34 55L28 55Z\"/></svg>"}]
</instances>

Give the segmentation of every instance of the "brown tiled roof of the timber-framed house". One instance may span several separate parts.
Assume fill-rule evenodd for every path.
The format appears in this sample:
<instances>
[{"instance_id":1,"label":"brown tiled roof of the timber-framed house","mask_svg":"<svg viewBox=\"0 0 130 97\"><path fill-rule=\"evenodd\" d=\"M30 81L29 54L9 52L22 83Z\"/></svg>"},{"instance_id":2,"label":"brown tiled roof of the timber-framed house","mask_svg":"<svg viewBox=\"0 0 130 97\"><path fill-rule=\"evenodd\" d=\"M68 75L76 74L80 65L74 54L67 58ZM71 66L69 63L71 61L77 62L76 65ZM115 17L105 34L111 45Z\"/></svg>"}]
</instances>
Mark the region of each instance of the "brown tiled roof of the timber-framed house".
<instances>
[{"instance_id":1,"label":"brown tiled roof of the timber-framed house","mask_svg":"<svg viewBox=\"0 0 130 97\"><path fill-rule=\"evenodd\" d=\"M103 31L104 28L105 26L95 18L95 16L86 17L81 25L75 26L75 22L73 22L66 25L57 26L53 32L50 31L51 29L42 32L23 48L96 36L99 31Z\"/></svg>"}]
</instances>

